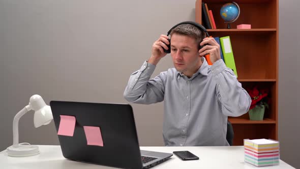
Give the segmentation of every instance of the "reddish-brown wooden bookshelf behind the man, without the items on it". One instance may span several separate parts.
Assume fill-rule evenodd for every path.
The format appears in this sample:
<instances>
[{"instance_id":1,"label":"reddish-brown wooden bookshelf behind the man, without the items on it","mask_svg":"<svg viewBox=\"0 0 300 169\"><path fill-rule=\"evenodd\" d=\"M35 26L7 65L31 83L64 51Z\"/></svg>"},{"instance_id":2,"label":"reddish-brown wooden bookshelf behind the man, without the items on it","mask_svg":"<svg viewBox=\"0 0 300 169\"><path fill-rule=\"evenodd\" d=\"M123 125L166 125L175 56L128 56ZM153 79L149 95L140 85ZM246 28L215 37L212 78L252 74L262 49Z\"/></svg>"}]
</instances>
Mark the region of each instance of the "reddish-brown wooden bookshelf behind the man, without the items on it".
<instances>
[{"instance_id":1,"label":"reddish-brown wooden bookshelf behind the man, without the items on it","mask_svg":"<svg viewBox=\"0 0 300 169\"><path fill-rule=\"evenodd\" d=\"M208 29L213 37L230 36L238 81L243 88L265 87L272 97L262 121L249 120L249 114L229 117L234 130L233 145L243 145L245 138L278 140L278 0L235 0L241 9L238 19L227 23L220 16L226 0L196 0L196 22L201 24L201 3L213 11L217 29ZM236 29L251 24L251 29Z\"/></svg>"}]
</instances>

